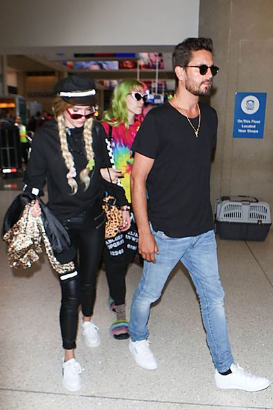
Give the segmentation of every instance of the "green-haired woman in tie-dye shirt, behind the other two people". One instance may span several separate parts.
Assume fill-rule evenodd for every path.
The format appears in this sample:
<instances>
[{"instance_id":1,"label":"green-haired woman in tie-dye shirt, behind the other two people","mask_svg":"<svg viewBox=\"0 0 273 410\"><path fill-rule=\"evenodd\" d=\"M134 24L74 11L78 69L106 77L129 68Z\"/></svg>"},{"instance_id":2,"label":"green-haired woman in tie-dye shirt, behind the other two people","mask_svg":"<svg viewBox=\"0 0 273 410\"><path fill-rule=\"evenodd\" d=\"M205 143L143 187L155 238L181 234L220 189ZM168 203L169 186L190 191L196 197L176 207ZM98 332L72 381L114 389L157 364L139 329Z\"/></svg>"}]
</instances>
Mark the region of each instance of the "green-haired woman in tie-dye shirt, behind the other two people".
<instances>
[{"instance_id":1,"label":"green-haired woman in tie-dye shirt, behind the other two people","mask_svg":"<svg viewBox=\"0 0 273 410\"><path fill-rule=\"evenodd\" d=\"M146 86L136 79L125 79L114 89L109 110L103 113L101 124L108 135L108 148L112 162L110 173L104 170L103 177L109 182L122 185L129 204L130 175L132 170L132 142L141 125ZM102 173L102 171L101 171ZM130 207L128 207L130 209ZM125 273L137 251L138 234L134 217L128 231L105 240L103 262L110 290L110 309L117 319L110 327L116 339L129 338L128 321L125 315Z\"/></svg>"}]
</instances>

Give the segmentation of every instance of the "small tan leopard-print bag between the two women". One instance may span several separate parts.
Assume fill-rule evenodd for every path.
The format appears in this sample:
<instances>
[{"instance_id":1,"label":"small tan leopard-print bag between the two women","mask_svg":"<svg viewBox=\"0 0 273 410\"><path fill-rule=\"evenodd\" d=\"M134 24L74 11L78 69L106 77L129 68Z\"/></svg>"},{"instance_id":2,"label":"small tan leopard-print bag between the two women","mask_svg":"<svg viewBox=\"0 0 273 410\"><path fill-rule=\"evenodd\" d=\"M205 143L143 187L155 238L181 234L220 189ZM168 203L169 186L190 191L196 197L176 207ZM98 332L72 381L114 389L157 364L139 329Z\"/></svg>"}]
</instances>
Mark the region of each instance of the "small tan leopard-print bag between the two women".
<instances>
[{"instance_id":1,"label":"small tan leopard-print bag between the two women","mask_svg":"<svg viewBox=\"0 0 273 410\"><path fill-rule=\"evenodd\" d=\"M121 228L122 213L117 207L116 202L117 199L110 195L103 198L102 207L107 217L105 223L105 239L116 236Z\"/></svg>"}]
</instances>

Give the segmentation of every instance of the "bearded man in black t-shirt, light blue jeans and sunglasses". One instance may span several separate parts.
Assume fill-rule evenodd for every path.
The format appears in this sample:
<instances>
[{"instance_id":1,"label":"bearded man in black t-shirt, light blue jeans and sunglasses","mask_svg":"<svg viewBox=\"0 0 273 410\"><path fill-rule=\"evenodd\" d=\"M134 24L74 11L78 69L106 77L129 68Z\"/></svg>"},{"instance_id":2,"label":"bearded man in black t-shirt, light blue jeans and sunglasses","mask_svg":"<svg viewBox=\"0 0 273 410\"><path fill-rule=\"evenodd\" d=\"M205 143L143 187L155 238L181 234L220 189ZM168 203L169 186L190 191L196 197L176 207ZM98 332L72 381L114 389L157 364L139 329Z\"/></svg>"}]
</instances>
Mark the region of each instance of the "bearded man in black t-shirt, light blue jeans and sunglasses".
<instances>
[{"instance_id":1,"label":"bearded man in black t-shirt, light blue jeans and sunglasses","mask_svg":"<svg viewBox=\"0 0 273 410\"><path fill-rule=\"evenodd\" d=\"M216 386L263 390L269 380L234 364L225 320L210 205L217 116L213 108L199 102L200 95L209 94L219 70L213 64L212 40L185 39L174 50L173 65L176 95L146 115L132 145L132 205L144 266L132 300L129 348L139 366L157 368L148 342L150 304L161 297L168 276L181 260L199 295Z\"/></svg>"}]
</instances>

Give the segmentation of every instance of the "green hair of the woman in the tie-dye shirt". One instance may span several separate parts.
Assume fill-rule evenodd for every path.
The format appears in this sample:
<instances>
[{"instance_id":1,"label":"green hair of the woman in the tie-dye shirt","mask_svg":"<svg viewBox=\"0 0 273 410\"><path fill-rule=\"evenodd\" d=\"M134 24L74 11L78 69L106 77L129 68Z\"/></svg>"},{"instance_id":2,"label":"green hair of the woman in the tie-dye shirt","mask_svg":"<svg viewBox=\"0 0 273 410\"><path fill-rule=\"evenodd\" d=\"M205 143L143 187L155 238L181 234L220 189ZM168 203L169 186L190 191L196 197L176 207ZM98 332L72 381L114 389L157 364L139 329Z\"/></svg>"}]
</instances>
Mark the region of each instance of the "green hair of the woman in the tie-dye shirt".
<instances>
[{"instance_id":1,"label":"green hair of the woman in the tie-dye shirt","mask_svg":"<svg viewBox=\"0 0 273 410\"><path fill-rule=\"evenodd\" d=\"M125 79L115 88L111 99L111 107L103 112L102 122L107 122L114 127L125 124L129 128L128 110L126 98L133 90L145 92L147 87L137 79Z\"/></svg>"}]
</instances>

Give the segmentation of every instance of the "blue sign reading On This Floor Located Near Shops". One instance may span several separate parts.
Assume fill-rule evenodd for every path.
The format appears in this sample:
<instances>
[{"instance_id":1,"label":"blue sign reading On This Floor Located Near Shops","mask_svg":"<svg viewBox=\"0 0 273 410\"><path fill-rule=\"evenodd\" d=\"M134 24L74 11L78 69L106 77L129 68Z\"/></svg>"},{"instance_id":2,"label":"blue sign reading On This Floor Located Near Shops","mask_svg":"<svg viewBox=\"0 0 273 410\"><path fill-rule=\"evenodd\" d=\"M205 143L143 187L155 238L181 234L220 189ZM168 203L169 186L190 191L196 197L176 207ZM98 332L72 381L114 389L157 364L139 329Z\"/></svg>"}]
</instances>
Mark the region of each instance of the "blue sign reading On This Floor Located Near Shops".
<instances>
[{"instance_id":1,"label":"blue sign reading On This Floor Located Near Shops","mask_svg":"<svg viewBox=\"0 0 273 410\"><path fill-rule=\"evenodd\" d=\"M263 138L266 92L236 92L233 138Z\"/></svg>"}]
</instances>

